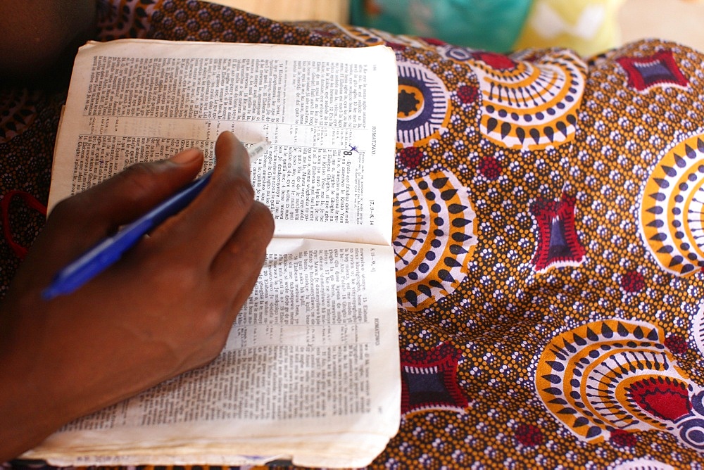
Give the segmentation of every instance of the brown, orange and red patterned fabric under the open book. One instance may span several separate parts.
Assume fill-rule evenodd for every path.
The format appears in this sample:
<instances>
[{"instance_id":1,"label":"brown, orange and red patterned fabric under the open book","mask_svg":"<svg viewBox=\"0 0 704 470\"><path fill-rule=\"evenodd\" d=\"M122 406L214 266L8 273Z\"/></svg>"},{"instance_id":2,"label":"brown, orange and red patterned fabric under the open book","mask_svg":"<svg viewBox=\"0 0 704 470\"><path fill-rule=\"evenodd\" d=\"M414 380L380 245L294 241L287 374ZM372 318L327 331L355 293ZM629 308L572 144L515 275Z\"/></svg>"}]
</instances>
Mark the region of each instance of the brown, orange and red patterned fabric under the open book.
<instances>
[{"instance_id":1,"label":"brown, orange and red patterned fabric under the open book","mask_svg":"<svg viewBox=\"0 0 704 470\"><path fill-rule=\"evenodd\" d=\"M199 1L101 11L103 39L396 51L403 417L372 468L700 468L703 55L499 56ZM0 96L0 189L46 201L65 91ZM41 217L11 209L29 244Z\"/></svg>"}]
</instances>

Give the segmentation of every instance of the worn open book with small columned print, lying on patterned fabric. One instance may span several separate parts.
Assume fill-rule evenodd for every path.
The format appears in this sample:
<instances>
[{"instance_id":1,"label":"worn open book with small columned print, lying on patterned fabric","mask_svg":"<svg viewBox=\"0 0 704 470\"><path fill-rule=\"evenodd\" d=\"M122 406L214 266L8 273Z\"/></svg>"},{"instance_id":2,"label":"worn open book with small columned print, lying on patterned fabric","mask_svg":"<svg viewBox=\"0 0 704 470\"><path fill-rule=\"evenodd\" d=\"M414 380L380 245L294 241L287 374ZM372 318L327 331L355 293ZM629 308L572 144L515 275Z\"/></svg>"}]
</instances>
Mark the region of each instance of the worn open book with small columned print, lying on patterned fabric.
<instances>
[{"instance_id":1,"label":"worn open book with small columned print, lying on patterned fabric","mask_svg":"<svg viewBox=\"0 0 704 470\"><path fill-rule=\"evenodd\" d=\"M215 362L75 421L23 457L54 464L369 464L398 430L391 208L396 63L333 49L120 40L75 61L49 207L230 130L276 219ZM223 203L227 203L223 201ZM129 345L125 345L129 347ZM80 387L80 383L76 384Z\"/></svg>"}]
</instances>

